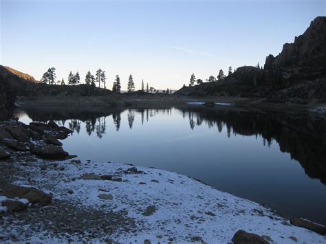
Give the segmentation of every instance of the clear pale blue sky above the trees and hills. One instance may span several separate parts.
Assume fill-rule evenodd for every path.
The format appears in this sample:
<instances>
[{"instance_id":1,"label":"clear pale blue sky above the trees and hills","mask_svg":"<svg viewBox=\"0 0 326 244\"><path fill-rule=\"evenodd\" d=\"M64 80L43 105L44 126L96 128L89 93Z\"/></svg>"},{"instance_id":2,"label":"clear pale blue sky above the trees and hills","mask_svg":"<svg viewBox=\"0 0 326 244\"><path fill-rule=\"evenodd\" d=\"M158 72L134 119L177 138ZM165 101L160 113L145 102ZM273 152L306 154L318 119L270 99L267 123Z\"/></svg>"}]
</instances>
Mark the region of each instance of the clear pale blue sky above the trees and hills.
<instances>
[{"instance_id":1,"label":"clear pale blue sky above the trees and hills","mask_svg":"<svg viewBox=\"0 0 326 244\"><path fill-rule=\"evenodd\" d=\"M179 89L229 66L263 64L316 16L309 1L1 1L1 65L41 79L102 68L111 89L133 74L156 89Z\"/></svg>"}]
</instances>

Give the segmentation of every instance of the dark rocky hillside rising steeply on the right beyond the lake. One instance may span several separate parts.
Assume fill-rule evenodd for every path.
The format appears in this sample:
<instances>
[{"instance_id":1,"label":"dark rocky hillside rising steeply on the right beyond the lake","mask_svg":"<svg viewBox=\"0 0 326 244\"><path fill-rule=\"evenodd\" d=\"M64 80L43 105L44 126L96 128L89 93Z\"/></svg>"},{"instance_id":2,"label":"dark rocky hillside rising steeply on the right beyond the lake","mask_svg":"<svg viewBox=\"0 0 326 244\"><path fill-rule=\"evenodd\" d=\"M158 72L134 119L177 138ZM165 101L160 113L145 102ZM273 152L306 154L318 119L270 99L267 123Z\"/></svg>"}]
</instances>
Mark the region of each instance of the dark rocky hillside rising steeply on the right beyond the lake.
<instances>
[{"instance_id":1,"label":"dark rocky hillside rising steeply on the right beyond the lake","mask_svg":"<svg viewBox=\"0 0 326 244\"><path fill-rule=\"evenodd\" d=\"M266 58L264 69L239 67L219 82L183 87L186 96L243 96L326 102L326 17L318 16L294 43L285 43L276 57Z\"/></svg>"}]
</instances>

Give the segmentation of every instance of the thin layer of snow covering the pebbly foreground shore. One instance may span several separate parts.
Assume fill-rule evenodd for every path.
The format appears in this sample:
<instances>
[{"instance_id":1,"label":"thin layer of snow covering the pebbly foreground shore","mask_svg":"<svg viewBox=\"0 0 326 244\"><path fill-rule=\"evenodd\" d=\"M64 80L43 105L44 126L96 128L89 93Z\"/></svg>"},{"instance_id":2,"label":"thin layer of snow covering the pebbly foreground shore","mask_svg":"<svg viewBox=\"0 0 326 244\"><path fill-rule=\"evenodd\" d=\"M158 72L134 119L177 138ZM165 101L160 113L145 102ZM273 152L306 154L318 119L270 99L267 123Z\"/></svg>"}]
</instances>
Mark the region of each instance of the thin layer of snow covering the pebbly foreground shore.
<instances>
[{"instance_id":1,"label":"thin layer of snow covering the pebbly foreground shore","mask_svg":"<svg viewBox=\"0 0 326 244\"><path fill-rule=\"evenodd\" d=\"M38 164L44 165L44 162ZM258 203L221 192L184 175L144 167L137 167L144 173L125 173L131 166L109 162L72 164L67 160L56 164L56 168L65 169L26 167L24 170L34 173L34 187L52 192L55 199L68 199L88 208L128 211L128 217L138 226L137 231L109 236L113 241L144 243L147 239L151 243L185 243L193 239L228 243L237 230L245 230L270 236L276 243L294 242L290 236L295 236L299 243L326 242L326 236L292 226ZM81 179L84 174L113 175L122 181ZM24 184L23 179L17 184ZM112 195L113 199L100 199L100 194ZM155 206L155 212L143 215L149 206Z\"/></svg>"}]
</instances>

